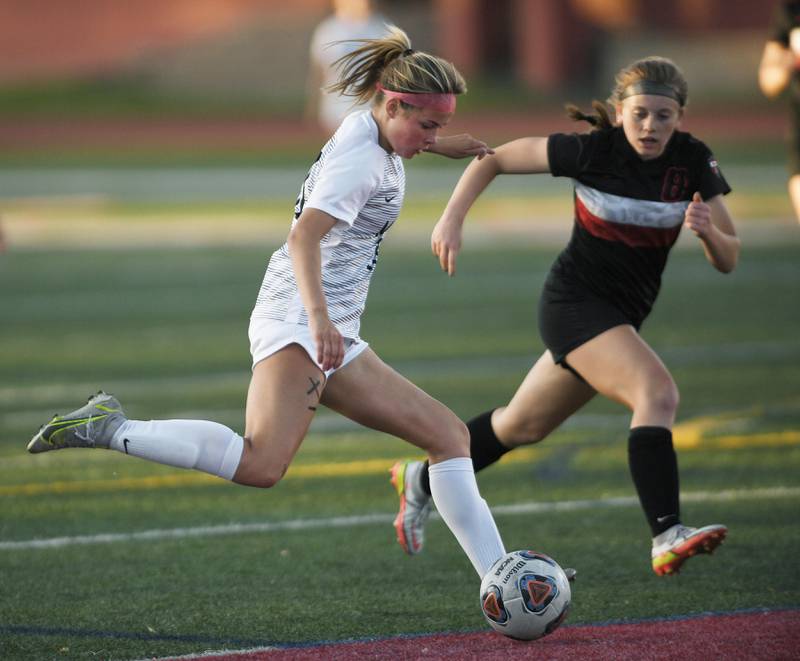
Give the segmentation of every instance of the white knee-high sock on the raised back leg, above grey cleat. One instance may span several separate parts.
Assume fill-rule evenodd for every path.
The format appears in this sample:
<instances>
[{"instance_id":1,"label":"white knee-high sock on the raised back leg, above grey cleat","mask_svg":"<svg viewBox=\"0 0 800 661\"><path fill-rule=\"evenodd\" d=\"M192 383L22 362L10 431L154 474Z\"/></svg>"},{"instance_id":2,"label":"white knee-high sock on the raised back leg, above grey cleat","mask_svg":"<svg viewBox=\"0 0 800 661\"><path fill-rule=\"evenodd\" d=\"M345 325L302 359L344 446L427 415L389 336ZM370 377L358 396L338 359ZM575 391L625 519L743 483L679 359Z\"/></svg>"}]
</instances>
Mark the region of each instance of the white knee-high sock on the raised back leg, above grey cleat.
<instances>
[{"instance_id":1,"label":"white knee-high sock on the raised back leg, above grey cleat","mask_svg":"<svg viewBox=\"0 0 800 661\"><path fill-rule=\"evenodd\" d=\"M233 479L244 441L225 425L208 420L128 420L111 439L112 450L178 468L196 468Z\"/></svg>"}]
</instances>

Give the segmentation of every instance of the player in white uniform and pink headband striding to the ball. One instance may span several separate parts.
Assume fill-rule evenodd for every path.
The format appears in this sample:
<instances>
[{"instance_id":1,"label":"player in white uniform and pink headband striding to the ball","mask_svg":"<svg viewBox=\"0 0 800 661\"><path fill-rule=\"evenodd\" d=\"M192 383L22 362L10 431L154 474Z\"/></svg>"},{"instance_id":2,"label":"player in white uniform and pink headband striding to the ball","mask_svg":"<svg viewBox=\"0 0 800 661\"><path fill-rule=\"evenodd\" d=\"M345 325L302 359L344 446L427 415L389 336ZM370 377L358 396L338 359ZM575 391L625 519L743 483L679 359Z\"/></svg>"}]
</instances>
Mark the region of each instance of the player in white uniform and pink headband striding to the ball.
<instances>
[{"instance_id":1,"label":"player in white uniform and pink headband striding to the ball","mask_svg":"<svg viewBox=\"0 0 800 661\"><path fill-rule=\"evenodd\" d=\"M456 96L455 67L411 49L406 34L364 40L339 61L333 91L370 101L348 116L312 165L285 245L270 260L250 323L253 374L245 433L203 420L129 420L105 393L56 416L30 452L110 448L238 484L286 473L319 403L427 452L433 500L480 577L505 553L456 415L403 378L359 337L384 233L405 193L403 158L491 153L469 135L438 137Z\"/></svg>"}]
</instances>

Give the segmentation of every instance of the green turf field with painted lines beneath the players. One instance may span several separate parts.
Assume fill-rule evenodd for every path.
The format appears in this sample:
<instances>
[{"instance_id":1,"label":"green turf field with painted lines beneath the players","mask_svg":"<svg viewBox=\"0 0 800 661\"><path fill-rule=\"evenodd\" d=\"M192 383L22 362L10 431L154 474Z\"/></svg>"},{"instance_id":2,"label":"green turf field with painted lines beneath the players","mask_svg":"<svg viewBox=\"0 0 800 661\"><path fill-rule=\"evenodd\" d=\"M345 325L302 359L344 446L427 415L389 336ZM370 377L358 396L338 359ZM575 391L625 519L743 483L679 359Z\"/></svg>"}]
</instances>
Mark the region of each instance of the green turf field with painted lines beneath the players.
<instances>
[{"instance_id":1,"label":"green turf field with painted lines beneath the players","mask_svg":"<svg viewBox=\"0 0 800 661\"><path fill-rule=\"evenodd\" d=\"M800 606L800 242L785 236L745 245L729 276L682 244L643 330L681 390L684 518L730 528L717 554L652 573L628 415L607 401L479 475L508 548L578 569L568 623ZM464 418L504 403L542 351L557 248L475 242L448 279L414 245L387 239L363 337ZM131 417L242 431L247 317L273 248L0 257L3 659L483 630L479 581L441 521L419 557L394 542L388 469L419 453L327 411L269 491L113 452L25 453L99 388Z\"/></svg>"}]
</instances>

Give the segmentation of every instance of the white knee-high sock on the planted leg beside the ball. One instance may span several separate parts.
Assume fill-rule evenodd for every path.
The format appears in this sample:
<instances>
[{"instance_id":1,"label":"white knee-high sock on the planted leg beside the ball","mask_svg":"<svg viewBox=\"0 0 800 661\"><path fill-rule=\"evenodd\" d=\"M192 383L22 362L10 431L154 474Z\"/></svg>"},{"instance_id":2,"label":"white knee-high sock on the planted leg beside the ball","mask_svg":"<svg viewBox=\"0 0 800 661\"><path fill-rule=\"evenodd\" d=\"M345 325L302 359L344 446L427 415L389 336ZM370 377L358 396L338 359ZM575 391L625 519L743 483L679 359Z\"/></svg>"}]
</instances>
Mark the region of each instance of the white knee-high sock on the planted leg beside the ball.
<instances>
[{"instance_id":1,"label":"white knee-high sock on the planted leg beside the ball","mask_svg":"<svg viewBox=\"0 0 800 661\"><path fill-rule=\"evenodd\" d=\"M506 550L489 506L478 492L472 459L458 457L432 464L428 475L436 509L483 578Z\"/></svg>"}]
</instances>

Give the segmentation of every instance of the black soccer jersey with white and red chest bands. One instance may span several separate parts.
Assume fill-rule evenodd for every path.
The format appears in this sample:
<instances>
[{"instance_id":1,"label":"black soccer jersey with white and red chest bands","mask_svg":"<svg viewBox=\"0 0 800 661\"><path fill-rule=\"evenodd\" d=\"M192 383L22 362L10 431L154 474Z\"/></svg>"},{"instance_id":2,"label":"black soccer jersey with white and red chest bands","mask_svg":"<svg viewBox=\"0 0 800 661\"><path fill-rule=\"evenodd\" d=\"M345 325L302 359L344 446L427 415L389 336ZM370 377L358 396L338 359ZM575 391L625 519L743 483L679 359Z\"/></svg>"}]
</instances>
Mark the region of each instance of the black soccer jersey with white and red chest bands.
<instances>
[{"instance_id":1,"label":"black soccer jersey with white and red chest bands","mask_svg":"<svg viewBox=\"0 0 800 661\"><path fill-rule=\"evenodd\" d=\"M575 183L575 224L548 285L586 288L638 327L655 302L661 274L695 191L730 192L711 151L676 131L664 153L644 161L622 128L555 133L550 171Z\"/></svg>"}]
</instances>

